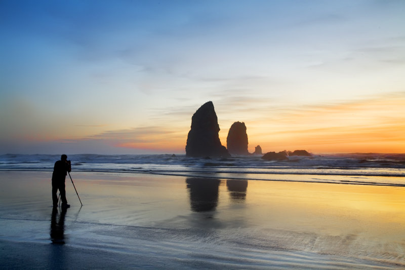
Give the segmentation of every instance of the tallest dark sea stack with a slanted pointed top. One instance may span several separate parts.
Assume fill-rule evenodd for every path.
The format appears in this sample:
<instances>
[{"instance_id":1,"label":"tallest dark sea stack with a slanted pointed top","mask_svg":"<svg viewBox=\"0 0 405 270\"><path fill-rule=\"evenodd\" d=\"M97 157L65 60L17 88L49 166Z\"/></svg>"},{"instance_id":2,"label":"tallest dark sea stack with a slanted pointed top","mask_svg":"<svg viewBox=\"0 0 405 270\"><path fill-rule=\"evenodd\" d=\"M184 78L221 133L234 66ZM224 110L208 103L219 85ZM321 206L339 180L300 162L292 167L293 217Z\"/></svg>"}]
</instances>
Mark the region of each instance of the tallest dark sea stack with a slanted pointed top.
<instances>
[{"instance_id":1,"label":"tallest dark sea stack with a slanted pointed top","mask_svg":"<svg viewBox=\"0 0 405 270\"><path fill-rule=\"evenodd\" d=\"M230 157L218 136L218 118L214 104L209 101L199 107L191 118L188 132L186 156L188 157Z\"/></svg>"}]
</instances>

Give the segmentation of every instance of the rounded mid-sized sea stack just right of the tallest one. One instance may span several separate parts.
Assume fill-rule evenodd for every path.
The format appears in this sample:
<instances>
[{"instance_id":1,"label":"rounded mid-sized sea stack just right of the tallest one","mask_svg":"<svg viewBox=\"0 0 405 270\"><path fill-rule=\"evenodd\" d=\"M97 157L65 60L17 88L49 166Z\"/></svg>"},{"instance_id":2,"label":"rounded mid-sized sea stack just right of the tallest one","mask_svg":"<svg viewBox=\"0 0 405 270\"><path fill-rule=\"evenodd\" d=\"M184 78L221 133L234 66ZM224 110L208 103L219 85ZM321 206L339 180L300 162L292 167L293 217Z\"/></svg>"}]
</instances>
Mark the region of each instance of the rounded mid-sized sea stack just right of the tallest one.
<instances>
[{"instance_id":1,"label":"rounded mid-sized sea stack just right of the tallest one","mask_svg":"<svg viewBox=\"0 0 405 270\"><path fill-rule=\"evenodd\" d=\"M235 122L226 137L226 148L231 155L249 155L248 134L244 122Z\"/></svg>"}]
</instances>

